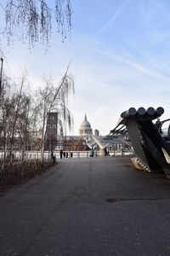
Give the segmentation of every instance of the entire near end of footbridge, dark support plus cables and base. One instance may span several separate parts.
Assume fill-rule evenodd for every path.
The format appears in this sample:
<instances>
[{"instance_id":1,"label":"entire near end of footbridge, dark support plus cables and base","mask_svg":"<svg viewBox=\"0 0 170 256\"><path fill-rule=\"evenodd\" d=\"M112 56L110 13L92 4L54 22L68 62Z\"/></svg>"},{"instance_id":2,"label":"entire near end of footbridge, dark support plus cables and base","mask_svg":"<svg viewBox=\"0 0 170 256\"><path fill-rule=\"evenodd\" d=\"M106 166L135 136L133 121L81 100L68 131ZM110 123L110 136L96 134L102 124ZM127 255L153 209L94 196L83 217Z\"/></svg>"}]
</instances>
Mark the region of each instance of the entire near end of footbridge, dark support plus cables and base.
<instances>
[{"instance_id":1,"label":"entire near end of footbridge, dark support plus cables and base","mask_svg":"<svg viewBox=\"0 0 170 256\"><path fill-rule=\"evenodd\" d=\"M169 121L160 121L164 109L159 108L129 108L121 113L118 125L108 137L122 139L122 144L130 143L136 157L133 165L148 172L164 172L170 175L170 125L167 132L161 129ZM158 119L154 124L153 120Z\"/></svg>"}]
</instances>

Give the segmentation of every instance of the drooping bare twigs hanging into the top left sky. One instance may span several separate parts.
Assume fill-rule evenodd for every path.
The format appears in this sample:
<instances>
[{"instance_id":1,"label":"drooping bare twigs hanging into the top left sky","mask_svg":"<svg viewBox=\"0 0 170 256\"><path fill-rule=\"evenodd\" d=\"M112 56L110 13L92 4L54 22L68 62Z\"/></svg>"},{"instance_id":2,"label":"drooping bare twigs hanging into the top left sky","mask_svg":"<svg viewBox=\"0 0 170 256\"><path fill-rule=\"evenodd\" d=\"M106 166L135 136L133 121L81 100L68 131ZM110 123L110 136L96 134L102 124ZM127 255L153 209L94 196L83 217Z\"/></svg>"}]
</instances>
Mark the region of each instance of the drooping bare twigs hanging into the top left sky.
<instances>
[{"instance_id":1,"label":"drooping bare twigs hanging into the top left sky","mask_svg":"<svg viewBox=\"0 0 170 256\"><path fill-rule=\"evenodd\" d=\"M52 31L53 18L56 32L64 42L71 32L72 8L70 0L55 0L50 6L45 0L7 0L6 6L0 3L5 13L6 26L1 34L5 34L8 44L17 37L29 46L37 42L48 46ZM54 16L53 16L54 14Z\"/></svg>"}]
</instances>

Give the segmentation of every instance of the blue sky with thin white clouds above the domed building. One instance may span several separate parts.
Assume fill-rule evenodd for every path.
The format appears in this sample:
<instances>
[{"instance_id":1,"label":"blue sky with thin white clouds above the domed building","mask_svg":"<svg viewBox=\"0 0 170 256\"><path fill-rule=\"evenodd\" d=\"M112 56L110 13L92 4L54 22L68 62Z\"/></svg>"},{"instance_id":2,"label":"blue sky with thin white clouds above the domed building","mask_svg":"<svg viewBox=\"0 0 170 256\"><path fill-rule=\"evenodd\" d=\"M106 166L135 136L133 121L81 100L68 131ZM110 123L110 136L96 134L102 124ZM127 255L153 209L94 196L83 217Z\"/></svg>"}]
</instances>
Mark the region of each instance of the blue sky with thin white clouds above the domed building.
<instances>
[{"instance_id":1,"label":"blue sky with thin white clouds above the domed building","mask_svg":"<svg viewBox=\"0 0 170 256\"><path fill-rule=\"evenodd\" d=\"M48 1L47 1L48 2ZM4 4L4 0L0 0ZM42 77L59 83L71 61L69 73L76 94L68 108L74 130L87 114L92 129L110 133L128 108L163 107L161 119L170 117L170 1L71 0L71 39L62 43L58 33L44 52L38 44L31 51L15 41L8 48L1 38L4 69L17 78L26 68L35 90ZM3 24L0 6L0 24Z\"/></svg>"}]
</instances>

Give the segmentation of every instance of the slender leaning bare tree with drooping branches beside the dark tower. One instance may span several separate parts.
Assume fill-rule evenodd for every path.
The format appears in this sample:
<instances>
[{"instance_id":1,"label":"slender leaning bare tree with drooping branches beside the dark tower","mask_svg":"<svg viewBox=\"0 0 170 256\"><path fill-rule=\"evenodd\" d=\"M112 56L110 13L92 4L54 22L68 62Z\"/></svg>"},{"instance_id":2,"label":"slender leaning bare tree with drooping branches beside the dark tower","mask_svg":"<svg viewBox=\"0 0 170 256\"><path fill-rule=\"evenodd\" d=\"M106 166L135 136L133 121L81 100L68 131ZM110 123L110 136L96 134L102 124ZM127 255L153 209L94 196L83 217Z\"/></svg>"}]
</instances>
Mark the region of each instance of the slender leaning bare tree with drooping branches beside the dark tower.
<instances>
[{"instance_id":1,"label":"slender leaning bare tree with drooping branches beside the dark tower","mask_svg":"<svg viewBox=\"0 0 170 256\"><path fill-rule=\"evenodd\" d=\"M66 69L65 75L59 85L54 86L51 80L46 81L45 88L39 88L39 101L41 106L42 119L42 141L41 141L41 160L43 162L45 129L49 112L59 113L59 125L65 125L71 129L73 118L67 108L68 96L74 93L74 80L68 75L70 64Z\"/></svg>"}]
</instances>

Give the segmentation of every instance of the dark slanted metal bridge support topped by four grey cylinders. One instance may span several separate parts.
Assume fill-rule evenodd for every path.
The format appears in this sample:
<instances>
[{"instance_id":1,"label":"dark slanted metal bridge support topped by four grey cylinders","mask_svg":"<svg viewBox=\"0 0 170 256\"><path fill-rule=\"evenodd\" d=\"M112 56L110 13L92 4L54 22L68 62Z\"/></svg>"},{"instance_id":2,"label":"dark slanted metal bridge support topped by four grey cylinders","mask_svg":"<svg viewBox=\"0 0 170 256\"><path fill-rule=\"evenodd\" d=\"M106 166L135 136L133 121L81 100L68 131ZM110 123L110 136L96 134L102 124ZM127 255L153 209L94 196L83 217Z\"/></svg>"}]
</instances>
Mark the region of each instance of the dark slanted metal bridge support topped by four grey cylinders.
<instances>
[{"instance_id":1,"label":"dark slanted metal bridge support topped by four grey cylinders","mask_svg":"<svg viewBox=\"0 0 170 256\"><path fill-rule=\"evenodd\" d=\"M170 164L167 162L164 152L170 154L170 145L161 137L160 132L152 123L159 118L164 109L159 108L129 108L121 114L120 125L127 126L137 164L144 166L150 172L165 172L170 175Z\"/></svg>"}]
</instances>

